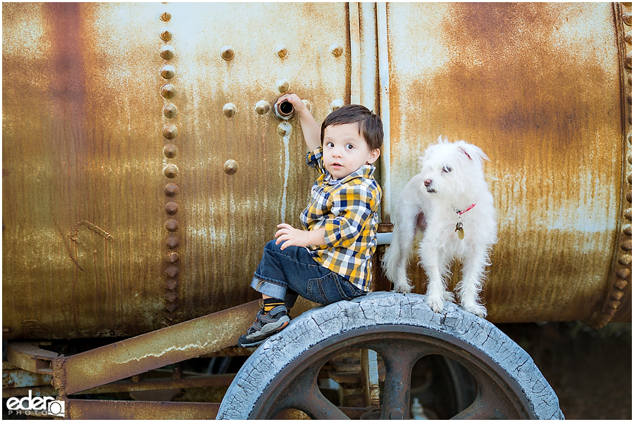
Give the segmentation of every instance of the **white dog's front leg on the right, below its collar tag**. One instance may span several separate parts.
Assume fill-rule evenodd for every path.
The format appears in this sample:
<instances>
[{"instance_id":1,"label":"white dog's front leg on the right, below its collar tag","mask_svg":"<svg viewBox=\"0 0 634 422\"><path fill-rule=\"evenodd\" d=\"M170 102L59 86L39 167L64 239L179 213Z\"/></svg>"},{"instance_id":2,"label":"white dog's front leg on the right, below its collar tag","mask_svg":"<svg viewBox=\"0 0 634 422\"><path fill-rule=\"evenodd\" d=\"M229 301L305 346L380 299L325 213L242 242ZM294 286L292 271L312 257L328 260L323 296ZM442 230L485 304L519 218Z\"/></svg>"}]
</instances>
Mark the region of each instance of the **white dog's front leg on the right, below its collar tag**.
<instances>
[{"instance_id":1,"label":"white dog's front leg on the right, below its collar tag","mask_svg":"<svg viewBox=\"0 0 634 422\"><path fill-rule=\"evenodd\" d=\"M485 268L490 264L487 250L476 248L472 255L462 263L462 280L456 286L460 297L460 305L467 312L482 318L487 316L487 309L480 304L480 291L485 280Z\"/></svg>"}]
</instances>

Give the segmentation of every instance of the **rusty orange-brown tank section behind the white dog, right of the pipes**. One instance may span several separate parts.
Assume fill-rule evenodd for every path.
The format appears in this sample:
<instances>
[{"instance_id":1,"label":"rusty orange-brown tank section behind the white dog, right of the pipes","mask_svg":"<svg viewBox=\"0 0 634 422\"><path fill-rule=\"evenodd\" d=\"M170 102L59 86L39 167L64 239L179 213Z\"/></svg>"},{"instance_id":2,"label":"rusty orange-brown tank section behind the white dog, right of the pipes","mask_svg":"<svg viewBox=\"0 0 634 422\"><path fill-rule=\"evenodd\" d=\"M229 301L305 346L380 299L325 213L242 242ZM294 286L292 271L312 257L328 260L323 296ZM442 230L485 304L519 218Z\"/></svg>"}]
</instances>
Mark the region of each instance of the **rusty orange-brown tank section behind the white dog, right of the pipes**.
<instances>
[{"instance_id":1,"label":"rusty orange-brown tank section behind the white dog, right of the pipes","mask_svg":"<svg viewBox=\"0 0 634 422\"><path fill-rule=\"evenodd\" d=\"M631 190L612 6L394 3L387 23L392 201L440 134L477 144L499 220L490 321L589 318Z\"/></svg>"}]
</instances>

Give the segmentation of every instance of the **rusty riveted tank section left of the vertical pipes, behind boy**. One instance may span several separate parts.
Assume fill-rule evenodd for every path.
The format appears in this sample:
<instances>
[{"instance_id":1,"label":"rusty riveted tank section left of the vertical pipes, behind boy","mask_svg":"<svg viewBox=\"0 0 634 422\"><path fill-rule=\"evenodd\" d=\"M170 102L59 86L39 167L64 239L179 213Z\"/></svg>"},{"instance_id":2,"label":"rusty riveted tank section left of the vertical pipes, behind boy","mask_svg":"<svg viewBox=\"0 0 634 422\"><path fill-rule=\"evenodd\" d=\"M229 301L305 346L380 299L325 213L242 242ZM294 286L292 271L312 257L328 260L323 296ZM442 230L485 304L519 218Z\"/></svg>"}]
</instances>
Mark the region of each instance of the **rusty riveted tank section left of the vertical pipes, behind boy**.
<instances>
[{"instance_id":1,"label":"rusty riveted tank section left of the vertical pipes, behind boy","mask_svg":"<svg viewBox=\"0 0 634 422\"><path fill-rule=\"evenodd\" d=\"M256 103L292 91L321 121L349 102L348 25L347 4L3 4L4 338L256 298L314 178L297 118L282 139Z\"/></svg>"}]
</instances>

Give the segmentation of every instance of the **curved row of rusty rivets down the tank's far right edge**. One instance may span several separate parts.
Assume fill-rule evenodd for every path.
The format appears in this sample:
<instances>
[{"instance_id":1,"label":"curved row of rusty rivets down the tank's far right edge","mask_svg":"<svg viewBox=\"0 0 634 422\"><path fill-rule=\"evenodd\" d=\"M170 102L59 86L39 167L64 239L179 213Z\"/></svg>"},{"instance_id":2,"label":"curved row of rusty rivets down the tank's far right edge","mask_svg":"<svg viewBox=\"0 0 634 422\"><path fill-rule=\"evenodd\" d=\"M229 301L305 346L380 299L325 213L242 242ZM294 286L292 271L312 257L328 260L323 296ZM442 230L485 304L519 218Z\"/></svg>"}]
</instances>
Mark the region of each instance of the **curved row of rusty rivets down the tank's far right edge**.
<instances>
[{"instance_id":1,"label":"curved row of rusty rivets down the tank's far right edge","mask_svg":"<svg viewBox=\"0 0 634 422\"><path fill-rule=\"evenodd\" d=\"M623 25L632 26L631 3L621 4L621 18ZM629 8L630 10L626 10ZM626 49L626 60L623 62L623 72L627 75L627 83L632 85L632 31L623 26L626 34L623 37ZM628 75L629 74L629 75ZM630 92L630 89L627 89ZM619 233L619 250L617 250L617 259L614 267L614 275L608 296L604 302L603 308L599 313L596 321L593 321L595 328L600 328L607 324L616 311L621 307L622 300L626 297L626 287L631 283L631 264L632 264L632 96L628 95L627 101L623 104L623 113L628 113L629 128L626 135L627 151L624 155L626 158L626 177L623 184L625 194L622 200L623 219L621 219L621 233ZM628 124L626 123L626 124Z\"/></svg>"}]
</instances>

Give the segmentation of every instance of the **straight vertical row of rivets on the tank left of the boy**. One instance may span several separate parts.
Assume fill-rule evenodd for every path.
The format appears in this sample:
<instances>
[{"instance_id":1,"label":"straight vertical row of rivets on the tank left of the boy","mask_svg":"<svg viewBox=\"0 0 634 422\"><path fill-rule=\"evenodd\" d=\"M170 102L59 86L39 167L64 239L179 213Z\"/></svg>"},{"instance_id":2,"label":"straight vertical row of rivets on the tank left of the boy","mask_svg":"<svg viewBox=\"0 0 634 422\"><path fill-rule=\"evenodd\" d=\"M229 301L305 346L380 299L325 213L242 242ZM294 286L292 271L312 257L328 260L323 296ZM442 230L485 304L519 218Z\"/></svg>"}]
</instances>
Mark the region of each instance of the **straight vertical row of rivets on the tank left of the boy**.
<instances>
[{"instance_id":1,"label":"straight vertical row of rivets on the tank left of the boy","mask_svg":"<svg viewBox=\"0 0 634 422\"><path fill-rule=\"evenodd\" d=\"M172 16L169 13L161 14L161 20L163 22L169 22ZM173 33L171 30L163 30L161 32L161 39L163 41L170 41L173 38ZM173 46L163 45L161 47L161 51L159 51L159 55L163 60L172 60L176 51ZM173 79L176 75L176 69L173 65L165 64L161 68L161 77L164 79ZM161 88L161 96L166 99L174 98L176 95L176 88L173 84L165 84ZM166 119L173 119L178 115L178 109L173 103L165 103L163 106L163 117ZM176 139L178 136L178 128L175 124L165 124L163 126L163 138L167 140ZM163 155L168 159L172 160L178 155L178 147L175 146L174 143L167 143L163 146ZM163 167L163 174L168 179L175 179L178 177L178 166L173 164L172 162L168 162L168 164ZM164 224L166 231L168 232L168 237L166 238L165 244L170 252L166 255L167 267L165 269L165 317L168 321L173 321L176 317L176 309L178 308L178 275L180 273L180 269L178 267L179 255L178 252L175 251L180 244L180 239L175 236L175 232L178 231L180 226L177 219L174 216L178 213L178 203L175 202L175 196L178 193L178 185L173 181L169 181L165 188L163 189L163 193L167 198L167 202L165 203L163 210L165 211L168 219Z\"/></svg>"}]
</instances>

